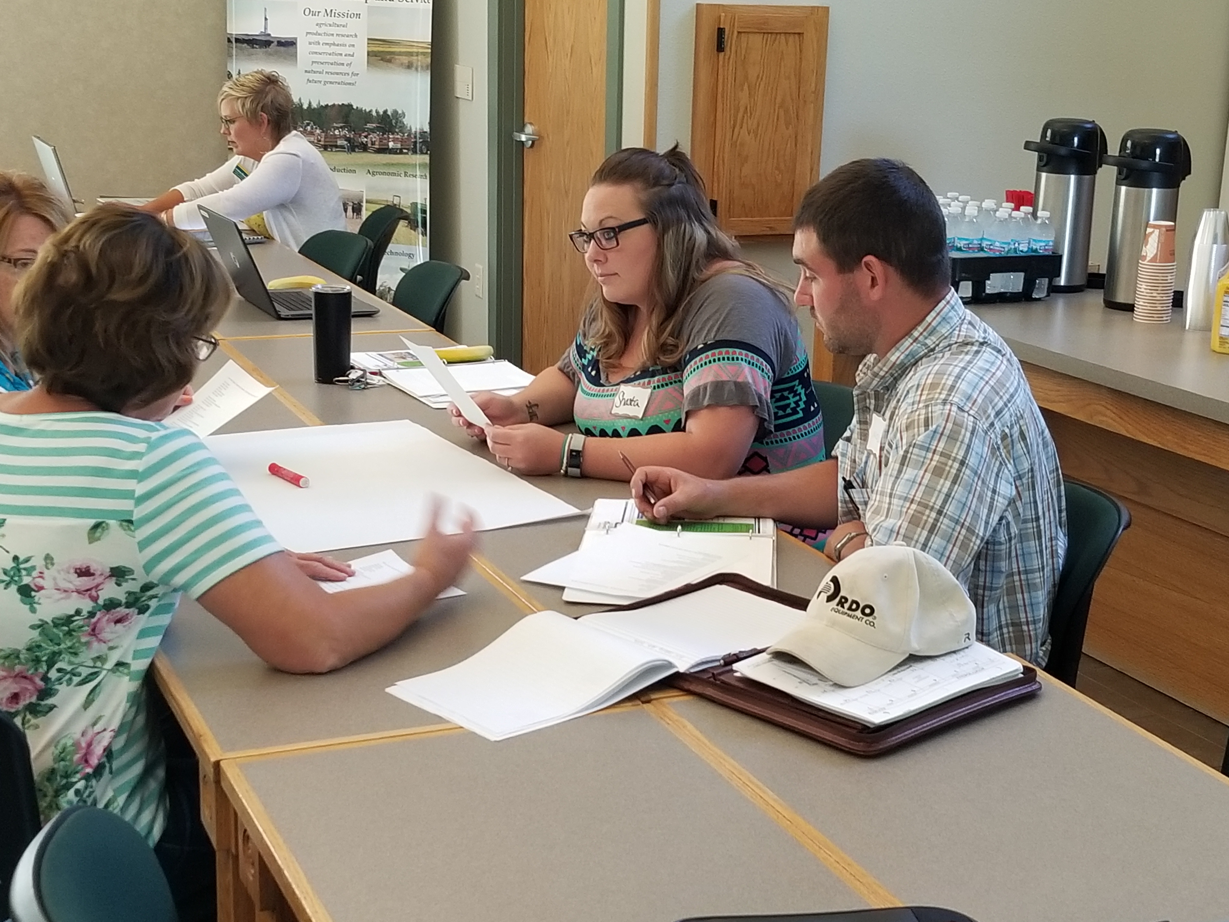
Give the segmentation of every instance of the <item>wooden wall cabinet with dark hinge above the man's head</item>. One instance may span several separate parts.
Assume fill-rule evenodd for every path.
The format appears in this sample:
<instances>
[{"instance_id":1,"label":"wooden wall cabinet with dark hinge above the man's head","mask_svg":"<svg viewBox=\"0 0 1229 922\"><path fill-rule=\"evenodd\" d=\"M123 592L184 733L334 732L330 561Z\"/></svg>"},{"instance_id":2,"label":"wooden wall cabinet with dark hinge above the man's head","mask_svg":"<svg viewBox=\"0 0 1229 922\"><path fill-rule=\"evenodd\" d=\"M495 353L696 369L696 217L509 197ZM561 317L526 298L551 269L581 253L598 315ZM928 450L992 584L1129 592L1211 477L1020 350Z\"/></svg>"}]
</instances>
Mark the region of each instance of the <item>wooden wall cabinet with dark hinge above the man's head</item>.
<instances>
[{"instance_id":1,"label":"wooden wall cabinet with dark hinge above the man's head","mask_svg":"<svg viewBox=\"0 0 1229 922\"><path fill-rule=\"evenodd\" d=\"M696 5L692 160L735 236L790 234L820 177L828 7Z\"/></svg>"}]
</instances>

